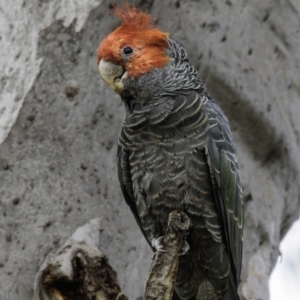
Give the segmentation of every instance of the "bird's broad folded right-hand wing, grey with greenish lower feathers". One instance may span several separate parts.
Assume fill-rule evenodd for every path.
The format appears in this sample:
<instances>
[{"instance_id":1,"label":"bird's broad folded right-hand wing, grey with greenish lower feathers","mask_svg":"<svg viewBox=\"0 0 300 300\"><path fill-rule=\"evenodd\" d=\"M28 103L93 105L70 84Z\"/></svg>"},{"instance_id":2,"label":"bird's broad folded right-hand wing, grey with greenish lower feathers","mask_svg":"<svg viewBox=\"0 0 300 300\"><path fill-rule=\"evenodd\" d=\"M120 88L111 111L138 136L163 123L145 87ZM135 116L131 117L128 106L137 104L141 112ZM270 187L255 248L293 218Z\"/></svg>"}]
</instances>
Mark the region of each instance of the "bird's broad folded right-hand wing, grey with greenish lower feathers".
<instances>
[{"instance_id":1,"label":"bird's broad folded right-hand wing, grey with greenish lower feathers","mask_svg":"<svg viewBox=\"0 0 300 300\"><path fill-rule=\"evenodd\" d=\"M207 162L237 286L242 263L243 201L236 148L228 120L218 105L208 101L205 110L209 126Z\"/></svg>"}]
</instances>

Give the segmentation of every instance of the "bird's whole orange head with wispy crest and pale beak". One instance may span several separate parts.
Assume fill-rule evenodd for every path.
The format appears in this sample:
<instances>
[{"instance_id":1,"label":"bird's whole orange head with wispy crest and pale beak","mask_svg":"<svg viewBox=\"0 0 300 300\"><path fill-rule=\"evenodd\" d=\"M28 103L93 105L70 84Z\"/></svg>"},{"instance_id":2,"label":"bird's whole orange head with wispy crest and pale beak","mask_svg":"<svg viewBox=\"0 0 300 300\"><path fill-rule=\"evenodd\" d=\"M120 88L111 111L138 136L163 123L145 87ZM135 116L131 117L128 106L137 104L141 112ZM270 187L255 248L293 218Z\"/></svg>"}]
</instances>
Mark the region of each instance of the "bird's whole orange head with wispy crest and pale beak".
<instances>
[{"instance_id":1,"label":"bird's whole orange head with wispy crest and pale beak","mask_svg":"<svg viewBox=\"0 0 300 300\"><path fill-rule=\"evenodd\" d=\"M121 93L123 79L139 78L168 63L168 33L156 28L151 16L129 4L115 8L114 14L122 24L100 43L97 63L104 82Z\"/></svg>"}]
</instances>

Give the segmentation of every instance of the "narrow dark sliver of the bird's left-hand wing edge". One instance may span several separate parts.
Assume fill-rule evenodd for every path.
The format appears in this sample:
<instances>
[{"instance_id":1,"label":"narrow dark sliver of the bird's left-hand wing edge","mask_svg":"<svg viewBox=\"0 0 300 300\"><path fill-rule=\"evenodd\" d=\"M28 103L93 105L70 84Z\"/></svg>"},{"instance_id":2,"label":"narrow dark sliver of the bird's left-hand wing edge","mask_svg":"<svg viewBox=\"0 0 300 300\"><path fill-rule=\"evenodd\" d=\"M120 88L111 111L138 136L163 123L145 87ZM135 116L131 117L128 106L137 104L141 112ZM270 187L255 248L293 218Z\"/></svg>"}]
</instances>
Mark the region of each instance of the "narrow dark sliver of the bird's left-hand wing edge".
<instances>
[{"instance_id":1,"label":"narrow dark sliver of the bird's left-hand wing edge","mask_svg":"<svg viewBox=\"0 0 300 300\"><path fill-rule=\"evenodd\" d=\"M133 190L132 190L132 181L131 181L131 174L130 174L130 166L129 166L129 153L125 149L123 149L122 146L118 146L118 177L119 177L119 182L121 186L121 190L123 193L123 197L126 201L126 203L129 205L134 218L139 225L146 241L152 248L152 245L150 241L148 240L143 227L141 225L141 220L137 211L137 207L135 205L135 201L133 198ZM153 248L152 248L153 249Z\"/></svg>"}]
</instances>

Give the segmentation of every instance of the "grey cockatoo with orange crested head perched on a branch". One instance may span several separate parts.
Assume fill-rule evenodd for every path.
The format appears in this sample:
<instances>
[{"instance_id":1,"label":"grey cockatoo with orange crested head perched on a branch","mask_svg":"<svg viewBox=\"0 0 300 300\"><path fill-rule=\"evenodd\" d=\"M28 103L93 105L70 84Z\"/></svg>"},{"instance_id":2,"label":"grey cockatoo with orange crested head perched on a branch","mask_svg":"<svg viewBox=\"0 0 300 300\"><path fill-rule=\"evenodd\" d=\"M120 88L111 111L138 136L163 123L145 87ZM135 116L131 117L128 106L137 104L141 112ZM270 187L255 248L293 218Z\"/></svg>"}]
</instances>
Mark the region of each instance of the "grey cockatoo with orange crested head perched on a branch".
<instances>
[{"instance_id":1,"label":"grey cockatoo with orange crested head perched on a branch","mask_svg":"<svg viewBox=\"0 0 300 300\"><path fill-rule=\"evenodd\" d=\"M154 251L165 251L170 212L189 217L174 297L238 300L244 210L229 121L154 17L128 3L113 14L121 24L100 42L97 64L126 110L117 152L124 199Z\"/></svg>"}]
</instances>

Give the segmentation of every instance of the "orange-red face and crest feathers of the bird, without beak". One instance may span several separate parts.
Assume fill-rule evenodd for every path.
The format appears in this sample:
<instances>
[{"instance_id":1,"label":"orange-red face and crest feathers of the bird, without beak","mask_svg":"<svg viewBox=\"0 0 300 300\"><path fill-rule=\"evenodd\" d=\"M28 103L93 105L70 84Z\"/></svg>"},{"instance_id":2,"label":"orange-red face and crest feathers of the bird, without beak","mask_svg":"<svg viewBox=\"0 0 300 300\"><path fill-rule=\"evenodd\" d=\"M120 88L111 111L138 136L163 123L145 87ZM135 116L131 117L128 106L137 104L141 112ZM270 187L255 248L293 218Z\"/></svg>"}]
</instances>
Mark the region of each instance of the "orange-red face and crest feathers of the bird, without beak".
<instances>
[{"instance_id":1,"label":"orange-red face and crest feathers of the bird, without beak","mask_svg":"<svg viewBox=\"0 0 300 300\"><path fill-rule=\"evenodd\" d=\"M153 68L161 68L170 60L166 54L168 33L154 25L154 18L126 3L122 8L115 7L113 14L122 24L109 34L100 44L97 62L101 59L125 67L129 76L138 77ZM130 46L133 54L124 59L122 49Z\"/></svg>"}]
</instances>

